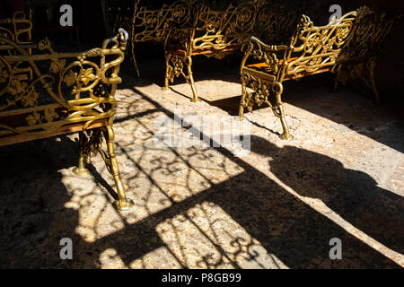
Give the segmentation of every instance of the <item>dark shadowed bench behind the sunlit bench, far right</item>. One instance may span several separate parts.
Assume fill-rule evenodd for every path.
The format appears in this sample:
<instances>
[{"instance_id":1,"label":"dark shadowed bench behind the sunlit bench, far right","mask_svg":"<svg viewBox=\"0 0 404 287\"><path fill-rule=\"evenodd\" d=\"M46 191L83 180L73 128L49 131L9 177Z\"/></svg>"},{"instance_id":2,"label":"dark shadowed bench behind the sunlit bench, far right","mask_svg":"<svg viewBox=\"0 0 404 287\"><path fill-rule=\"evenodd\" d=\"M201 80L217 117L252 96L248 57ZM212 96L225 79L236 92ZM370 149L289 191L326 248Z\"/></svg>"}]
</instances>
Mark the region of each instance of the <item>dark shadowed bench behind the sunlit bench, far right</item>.
<instances>
[{"instance_id":1,"label":"dark shadowed bench behind the sunlit bench, far right","mask_svg":"<svg viewBox=\"0 0 404 287\"><path fill-rule=\"evenodd\" d=\"M373 11L368 6L358 9L352 36L347 46L341 50L333 68L337 72L334 90L337 90L338 83L345 85L350 79L359 78L372 89L374 101L379 103L379 92L374 81L376 60L382 53L382 45L394 22L401 16L388 16L386 13Z\"/></svg>"}]
</instances>

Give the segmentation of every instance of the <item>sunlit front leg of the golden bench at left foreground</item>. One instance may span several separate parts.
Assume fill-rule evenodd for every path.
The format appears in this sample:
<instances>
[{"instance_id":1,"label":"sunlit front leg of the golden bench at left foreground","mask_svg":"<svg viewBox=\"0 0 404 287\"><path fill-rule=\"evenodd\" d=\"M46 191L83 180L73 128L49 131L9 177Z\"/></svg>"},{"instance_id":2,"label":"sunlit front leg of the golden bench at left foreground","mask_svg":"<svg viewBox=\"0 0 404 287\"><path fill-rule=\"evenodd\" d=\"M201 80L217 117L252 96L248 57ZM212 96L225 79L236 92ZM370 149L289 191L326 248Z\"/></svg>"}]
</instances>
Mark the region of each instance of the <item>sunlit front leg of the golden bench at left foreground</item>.
<instances>
[{"instance_id":1,"label":"sunlit front leg of the golden bench at left foreground","mask_svg":"<svg viewBox=\"0 0 404 287\"><path fill-rule=\"evenodd\" d=\"M118 200L114 202L115 207L118 210L128 210L130 209L134 203L131 199L128 199L125 194L125 187L122 184L122 180L119 174L119 166L116 154L114 152L114 130L112 126L107 126L104 130L105 141L107 142L107 150L108 150L108 160L106 164L110 166L110 173L112 174L115 185L117 186L118 191Z\"/></svg>"}]
</instances>

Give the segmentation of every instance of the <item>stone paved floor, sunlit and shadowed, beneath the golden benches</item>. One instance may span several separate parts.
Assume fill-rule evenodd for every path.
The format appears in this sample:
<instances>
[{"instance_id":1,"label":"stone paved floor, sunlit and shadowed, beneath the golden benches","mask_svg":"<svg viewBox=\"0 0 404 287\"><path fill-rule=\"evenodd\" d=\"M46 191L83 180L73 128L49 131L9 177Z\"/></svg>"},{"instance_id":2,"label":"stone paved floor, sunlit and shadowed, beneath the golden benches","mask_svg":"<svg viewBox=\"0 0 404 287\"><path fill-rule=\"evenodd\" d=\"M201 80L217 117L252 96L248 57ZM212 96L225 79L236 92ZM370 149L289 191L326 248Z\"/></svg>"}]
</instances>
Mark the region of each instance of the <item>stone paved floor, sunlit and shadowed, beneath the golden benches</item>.
<instances>
[{"instance_id":1,"label":"stone paved floor, sunlit and shadowed, beneath the golden benches","mask_svg":"<svg viewBox=\"0 0 404 287\"><path fill-rule=\"evenodd\" d=\"M404 130L391 107L351 87L330 93L330 78L314 76L285 84L293 140L278 138L278 119L262 108L245 121L250 153L232 144L187 147L189 126L175 126L173 113L220 143L198 120L231 122L241 94L236 68L202 64L197 104L182 81L161 91L152 67L141 79L123 73L115 132L136 204L128 212L113 209L115 187L100 156L92 175L74 176L76 135L0 149L0 267L404 266ZM167 118L182 145L156 141ZM73 260L59 257L66 237ZM332 238L341 239L340 260L329 258Z\"/></svg>"}]
</instances>

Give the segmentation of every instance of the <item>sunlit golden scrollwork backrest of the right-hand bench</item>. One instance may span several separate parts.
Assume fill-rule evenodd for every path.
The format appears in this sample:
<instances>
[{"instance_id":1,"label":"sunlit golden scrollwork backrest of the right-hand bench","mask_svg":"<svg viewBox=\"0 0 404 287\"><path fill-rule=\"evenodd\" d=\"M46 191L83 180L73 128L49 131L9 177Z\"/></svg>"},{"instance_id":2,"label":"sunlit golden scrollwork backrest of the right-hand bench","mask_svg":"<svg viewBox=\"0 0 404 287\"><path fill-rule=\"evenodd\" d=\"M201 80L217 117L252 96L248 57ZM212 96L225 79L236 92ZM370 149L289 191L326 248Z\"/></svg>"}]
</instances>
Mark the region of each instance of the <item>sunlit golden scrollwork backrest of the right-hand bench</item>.
<instances>
[{"instance_id":1,"label":"sunlit golden scrollwork backrest of the right-hand bench","mask_svg":"<svg viewBox=\"0 0 404 287\"><path fill-rule=\"evenodd\" d=\"M356 11L333 19L325 26L314 26L304 16L291 41L291 53L285 59L285 74L312 73L336 64L356 20Z\"/></svg>"}]
</instances>

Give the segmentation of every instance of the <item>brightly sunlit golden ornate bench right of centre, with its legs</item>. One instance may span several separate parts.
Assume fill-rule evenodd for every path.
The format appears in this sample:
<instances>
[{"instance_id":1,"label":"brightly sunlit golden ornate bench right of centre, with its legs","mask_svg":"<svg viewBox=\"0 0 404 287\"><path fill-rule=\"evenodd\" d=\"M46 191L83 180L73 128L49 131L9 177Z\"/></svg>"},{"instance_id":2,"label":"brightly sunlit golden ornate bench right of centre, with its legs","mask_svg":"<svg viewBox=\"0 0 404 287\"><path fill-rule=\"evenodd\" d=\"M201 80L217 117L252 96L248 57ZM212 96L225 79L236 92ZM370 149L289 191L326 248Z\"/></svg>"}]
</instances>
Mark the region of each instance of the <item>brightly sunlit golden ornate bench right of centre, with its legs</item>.
<instances>
[{"instance_id":1,"label":"brightly sunlit golden ornate bench right of centre, with its legs","mask_svg":"<svg viewBox=\"0 0 404 287\"><path fill-rule=\"evenodd\" d=\"M314 26L309 17L303 15L289 42L284 45L267 45L251 37L240 68L241 120L245 108L251 111L255 104L261 106L266 103L281 120L281 138L290 139L282 105L282 83L310 74L329 72L336 64L338 54L346 44L355 20L356 12L351 12L340 19L334 19L328 25ZM255 63L247 65L248 61ZM247 88L254 92L248 91Z\"/></svg>"}]
</instances>

